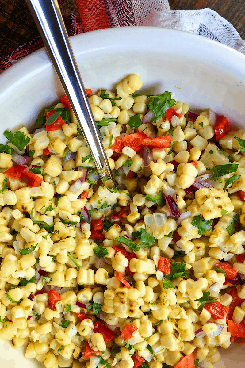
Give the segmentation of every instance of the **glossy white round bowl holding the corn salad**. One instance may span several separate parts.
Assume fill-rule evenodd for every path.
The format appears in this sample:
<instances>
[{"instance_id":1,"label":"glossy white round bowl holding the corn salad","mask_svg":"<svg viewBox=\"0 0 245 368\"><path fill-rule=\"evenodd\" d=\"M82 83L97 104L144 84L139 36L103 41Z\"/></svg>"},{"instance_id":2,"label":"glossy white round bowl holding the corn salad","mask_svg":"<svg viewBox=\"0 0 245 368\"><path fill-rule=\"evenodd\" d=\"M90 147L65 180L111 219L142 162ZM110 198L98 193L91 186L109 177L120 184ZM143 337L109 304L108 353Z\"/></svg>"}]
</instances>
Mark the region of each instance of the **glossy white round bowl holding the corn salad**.
<instances>
[{"instance_id":1,"label":"glossy white round bowl holding the corn salad","mask_svg":"<svg viewBox=\"0 0 245 368\"><path fill-rule=\"evenodd\" d=\"M232 123L245 125L245 55L216 41L171 29L123 27L71 37L86 88L113 88L137 73L143 91L171 91L193 108L210 107ZM41 110L63 91L45 49L18 61L0 75L1 134L17 125L31 126ZM6 142L2 136L1 142ZM217 368L242 367L242 346L220 349ZM243 349L244 350L244 349ZM1 367L40 367L22 350L0 341Z\"/></svg>"}]
</instances>

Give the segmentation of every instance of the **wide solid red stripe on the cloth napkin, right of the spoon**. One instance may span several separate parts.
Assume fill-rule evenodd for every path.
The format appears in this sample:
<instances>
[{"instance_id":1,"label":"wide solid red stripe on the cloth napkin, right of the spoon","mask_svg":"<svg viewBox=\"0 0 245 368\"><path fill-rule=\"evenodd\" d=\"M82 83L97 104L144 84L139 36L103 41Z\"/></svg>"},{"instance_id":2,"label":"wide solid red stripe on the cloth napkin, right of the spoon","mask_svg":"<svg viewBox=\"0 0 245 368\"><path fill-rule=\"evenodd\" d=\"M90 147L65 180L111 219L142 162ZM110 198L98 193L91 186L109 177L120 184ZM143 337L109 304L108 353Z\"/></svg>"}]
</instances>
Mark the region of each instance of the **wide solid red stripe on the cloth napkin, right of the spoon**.
<instances>
[{"instance_id":1,"label":"wide solid red stripe on the cloth napkin, right of the spoon","mask_svg":"<svg viewBox=\"0 0 245 368\"><path fill-rule=\"evenodd\" d=\"M102 0L76 0L84 32L110 28Z\"/></svg>"}]
</instances>

